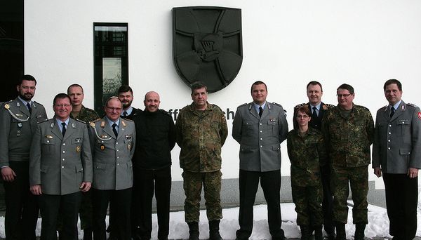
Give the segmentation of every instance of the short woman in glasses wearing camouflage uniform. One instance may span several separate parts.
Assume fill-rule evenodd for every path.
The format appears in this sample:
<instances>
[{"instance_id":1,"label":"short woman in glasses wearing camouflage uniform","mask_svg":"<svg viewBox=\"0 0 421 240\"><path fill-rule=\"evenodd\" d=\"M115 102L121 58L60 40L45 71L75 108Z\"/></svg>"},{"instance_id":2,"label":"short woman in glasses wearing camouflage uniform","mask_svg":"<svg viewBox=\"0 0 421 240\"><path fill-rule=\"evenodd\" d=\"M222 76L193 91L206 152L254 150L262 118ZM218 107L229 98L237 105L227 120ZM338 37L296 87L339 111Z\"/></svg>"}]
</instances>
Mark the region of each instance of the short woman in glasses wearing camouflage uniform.
<instances>
[{"instance_id":1,"label":"short woman in glasses wearing camouflage uniform","mask_svg":"<svg viewBox=\"0 0 421 240\"><path fill-rule=\"evenodd\" d=\"M291 162L291 187L297 225L301 229L301 239L309 239L310 222L315 229L315 239L323 239L323 189L321 187L320 166L326 164L326 150L320 131L309 127L311 113L308 107L300 107L294 117L298 129L288 133L288 156ZM311 220L311 221L310 221Z\"/></svg>"}]
</instances>

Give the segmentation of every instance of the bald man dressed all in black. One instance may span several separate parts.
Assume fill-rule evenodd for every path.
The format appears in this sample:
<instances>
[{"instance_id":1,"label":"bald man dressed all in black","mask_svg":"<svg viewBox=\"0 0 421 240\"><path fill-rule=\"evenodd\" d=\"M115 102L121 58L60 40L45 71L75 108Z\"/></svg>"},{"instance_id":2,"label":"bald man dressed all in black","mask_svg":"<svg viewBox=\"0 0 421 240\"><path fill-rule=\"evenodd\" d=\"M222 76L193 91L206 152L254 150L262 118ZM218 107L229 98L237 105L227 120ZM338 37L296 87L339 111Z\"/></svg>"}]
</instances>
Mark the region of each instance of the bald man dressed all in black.
<instances>
[{"instance_id":1,"label":"bald man dressed all in black","mask_svg":"<svg viewBox=\"0 0 421 240\"><path fill-rule=\"evenodd\" d=\"M133 157L133 206L135 239L150 239L152 196L156 198L158 239L168 239L171 192L171 149L175 145L175 125L168 112L159 109L159 94L145 95L145 111L135 117L138 140Z\"/></svg>"}]
</instances>

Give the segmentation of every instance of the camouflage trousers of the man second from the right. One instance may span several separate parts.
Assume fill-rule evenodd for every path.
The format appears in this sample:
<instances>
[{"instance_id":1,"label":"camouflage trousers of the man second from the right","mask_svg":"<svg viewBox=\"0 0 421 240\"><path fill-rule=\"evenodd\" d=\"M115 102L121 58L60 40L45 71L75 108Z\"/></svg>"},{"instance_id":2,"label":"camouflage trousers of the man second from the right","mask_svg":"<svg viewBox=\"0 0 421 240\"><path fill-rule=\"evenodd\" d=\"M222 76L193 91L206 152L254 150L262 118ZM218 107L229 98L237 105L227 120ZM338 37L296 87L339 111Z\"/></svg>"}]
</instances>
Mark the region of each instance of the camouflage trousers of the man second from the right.
<instances>
[{"instance_id":1,"label":"camouflage trousers of the man second from the right","mask_svg":"<svg viewBox=\"0 0 421 240\"><path fill-rule=\"evenodd\" d=\"M333 192L333 220L347 223L349 185L352 191L352 220L356 223L368 223L367 194L368 166L354 168L332 166L331 182Z\"/></svg>"}]
</instances>

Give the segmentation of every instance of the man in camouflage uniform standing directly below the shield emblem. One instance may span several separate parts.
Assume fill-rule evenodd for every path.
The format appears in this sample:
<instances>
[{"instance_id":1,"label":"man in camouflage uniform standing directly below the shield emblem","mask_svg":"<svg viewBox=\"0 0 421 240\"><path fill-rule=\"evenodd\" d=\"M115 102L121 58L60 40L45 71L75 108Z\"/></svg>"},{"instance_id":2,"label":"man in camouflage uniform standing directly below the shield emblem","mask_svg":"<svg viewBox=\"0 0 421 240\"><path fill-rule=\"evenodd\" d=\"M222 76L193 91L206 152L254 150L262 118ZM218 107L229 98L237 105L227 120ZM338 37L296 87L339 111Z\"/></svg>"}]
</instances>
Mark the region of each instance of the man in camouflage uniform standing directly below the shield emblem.
<instances>
[{"instance_id":1,"label":"man in camouflage uniform standing directly below the shield emblem","mask_svg":"<svg viewBox=\"0 0 421 240\"><path fill-rule=\"evenodd\" d=\"M181 109L175 123L186 194L185 220L189 225L189 239L199 240L200 194L203 185L209 239L219 240L222 239L219 233L222 218L221 148L228 135L227 121L217 105L208 103L206 85L196 82L191 88L193 103Z\"/></svg>"}]
</instances>

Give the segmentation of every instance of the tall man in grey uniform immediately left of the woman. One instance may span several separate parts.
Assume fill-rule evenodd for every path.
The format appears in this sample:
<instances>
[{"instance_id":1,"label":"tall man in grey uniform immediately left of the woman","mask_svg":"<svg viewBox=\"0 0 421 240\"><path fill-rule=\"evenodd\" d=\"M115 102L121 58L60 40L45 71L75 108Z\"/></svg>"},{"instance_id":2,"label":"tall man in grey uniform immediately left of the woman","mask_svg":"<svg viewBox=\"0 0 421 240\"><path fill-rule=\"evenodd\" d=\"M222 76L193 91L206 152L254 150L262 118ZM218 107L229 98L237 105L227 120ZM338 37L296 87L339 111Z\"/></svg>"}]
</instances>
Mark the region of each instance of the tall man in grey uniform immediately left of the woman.
<instances>
[{"instance_id":1,"label":"tall man in grey uniform immediately left of the woman","mask_svg":"<svg viewBox=\"0 0 421 240\"><path fill-rule=\"evenodd\" d=\"M232 137L240 144L240 229L237 239L248 239L253 230L253 204L260 179L267 202L267 220L272 239L285 239L281 229L281 142L286 140L288 123L281 105L266 101L267 86L256 81L251 86L253 102L237 108ZM257 145L256 145L257 143Z\"/></svg>"}]
</instances>

